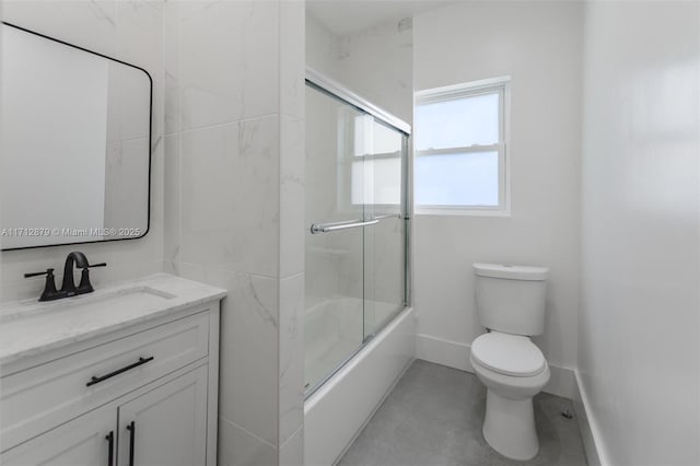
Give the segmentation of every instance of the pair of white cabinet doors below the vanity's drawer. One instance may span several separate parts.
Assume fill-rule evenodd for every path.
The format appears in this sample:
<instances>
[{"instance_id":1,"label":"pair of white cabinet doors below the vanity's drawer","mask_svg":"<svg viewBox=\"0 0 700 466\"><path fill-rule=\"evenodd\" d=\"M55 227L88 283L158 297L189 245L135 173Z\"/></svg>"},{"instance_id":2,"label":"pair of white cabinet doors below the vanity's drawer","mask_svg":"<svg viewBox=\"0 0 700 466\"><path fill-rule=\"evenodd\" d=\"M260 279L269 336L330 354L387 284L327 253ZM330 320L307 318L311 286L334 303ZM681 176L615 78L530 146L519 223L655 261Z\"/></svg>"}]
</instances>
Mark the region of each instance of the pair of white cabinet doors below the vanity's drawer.
<instances>
[{"instance_id":1,"label":"pair of white cabinet doors below the vanity's drawer","mask_svg":"<svg viewBox=\"0 0 700 466\"><path fill-rule=\"evenodd\" d=\"M197 466L207 461L207 365L94 409L0 456L2 465Z\"/></svg>"}]
</instances>

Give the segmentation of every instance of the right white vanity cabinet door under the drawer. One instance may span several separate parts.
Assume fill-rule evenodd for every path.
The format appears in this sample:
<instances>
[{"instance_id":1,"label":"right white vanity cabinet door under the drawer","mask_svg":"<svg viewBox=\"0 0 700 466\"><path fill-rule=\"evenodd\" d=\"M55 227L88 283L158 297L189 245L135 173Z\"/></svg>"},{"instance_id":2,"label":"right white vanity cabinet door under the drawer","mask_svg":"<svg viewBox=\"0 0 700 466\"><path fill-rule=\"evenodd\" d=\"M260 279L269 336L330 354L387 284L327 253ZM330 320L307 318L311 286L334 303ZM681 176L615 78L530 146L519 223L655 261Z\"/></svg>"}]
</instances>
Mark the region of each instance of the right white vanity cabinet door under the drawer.
<instances>
[{"instance_id":1,"label":"right white vanity cabinet door under the drawer","mask_svg":"<svg viewBox=\"0 0 700 466\"><path fill-rule=\"evenodd\" d=\"M118 408L119 466L207 462L207 365Z\"/></svg>"}]
</instances>

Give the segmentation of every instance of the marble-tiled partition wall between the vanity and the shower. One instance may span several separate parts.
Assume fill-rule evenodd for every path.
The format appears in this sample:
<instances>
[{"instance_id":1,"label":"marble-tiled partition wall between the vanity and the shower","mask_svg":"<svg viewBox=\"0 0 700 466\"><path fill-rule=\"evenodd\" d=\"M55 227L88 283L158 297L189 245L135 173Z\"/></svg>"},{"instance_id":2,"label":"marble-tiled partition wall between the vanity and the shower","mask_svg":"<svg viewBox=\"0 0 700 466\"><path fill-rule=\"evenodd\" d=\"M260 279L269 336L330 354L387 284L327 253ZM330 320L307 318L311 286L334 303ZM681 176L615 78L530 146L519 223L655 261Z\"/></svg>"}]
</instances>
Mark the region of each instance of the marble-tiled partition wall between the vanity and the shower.
<instances>
[{"instance_id":1,"label":"marble-tiled partition wall between the vanity and the shower","mask_svg":"<svg viewBox=\"0 0 700 466\"><path fill-rule=\"evenodd\" d=\"M301 465L304 2L163 18L165 269L229 290L219 464Z\"/></svg>"}]
</instances>

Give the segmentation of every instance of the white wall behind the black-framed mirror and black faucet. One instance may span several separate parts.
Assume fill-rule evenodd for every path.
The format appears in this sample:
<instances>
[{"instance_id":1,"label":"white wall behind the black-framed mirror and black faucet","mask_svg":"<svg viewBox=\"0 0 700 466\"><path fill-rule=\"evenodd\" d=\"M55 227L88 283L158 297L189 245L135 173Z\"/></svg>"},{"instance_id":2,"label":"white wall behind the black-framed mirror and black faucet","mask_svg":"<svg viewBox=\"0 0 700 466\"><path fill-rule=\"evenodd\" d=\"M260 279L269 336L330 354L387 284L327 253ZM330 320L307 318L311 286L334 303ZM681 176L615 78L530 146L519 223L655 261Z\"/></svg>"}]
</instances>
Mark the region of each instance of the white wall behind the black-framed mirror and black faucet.
<instances>
[{"instance_id":1,"label":"white wall behind the black-framed mirror and black faucet","mask_svg":"<svg viewBox=\"0 0 700 466\"><path fill-rule=\"evenodd\" d=\"M44 278L24 272L56 268L60 287L62 265L71 251L93 263L96 287L142 277L163 269L163 28L162 3L149 1L3 1L3 21L79 45L147 69L153 77L153 139L151 229L141 240L95 243L0 253L2 301L38 298ZM77 193L77 195L79 195ZM11 202L3 199L3 202Z\"/></svg>"}]
</instances>

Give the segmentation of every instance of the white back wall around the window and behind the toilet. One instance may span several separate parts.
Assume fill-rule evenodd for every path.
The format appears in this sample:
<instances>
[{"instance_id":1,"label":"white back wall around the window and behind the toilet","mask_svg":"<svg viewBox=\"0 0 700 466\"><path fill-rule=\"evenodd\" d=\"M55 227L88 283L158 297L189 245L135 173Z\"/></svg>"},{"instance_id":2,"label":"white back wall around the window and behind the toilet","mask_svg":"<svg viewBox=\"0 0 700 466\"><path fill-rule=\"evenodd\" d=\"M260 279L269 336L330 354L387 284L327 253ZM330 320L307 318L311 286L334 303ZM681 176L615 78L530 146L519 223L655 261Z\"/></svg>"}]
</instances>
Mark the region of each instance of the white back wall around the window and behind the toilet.
<instances>
[{"instance_id":1,"label":"white back wall around the window and behind the toilet","mask_svg":"<svg viewBox=\"0 0 700 466\"><path fill-rule=\"evenodd\" d=\"M466 347L482 333L471 264L530 264L551 271L545 335L535 341L551 364L572 366L579 292L582 5L450 5L413 19L413 48L417 91L512 77L511 215L415 218L418 357L468 369ZM571 378L569 372L567 384ZM565 394L568 388L550 389Z\"/></svg>"}]
</instances>

